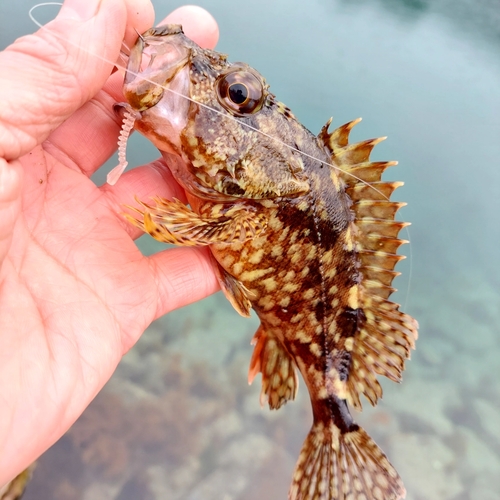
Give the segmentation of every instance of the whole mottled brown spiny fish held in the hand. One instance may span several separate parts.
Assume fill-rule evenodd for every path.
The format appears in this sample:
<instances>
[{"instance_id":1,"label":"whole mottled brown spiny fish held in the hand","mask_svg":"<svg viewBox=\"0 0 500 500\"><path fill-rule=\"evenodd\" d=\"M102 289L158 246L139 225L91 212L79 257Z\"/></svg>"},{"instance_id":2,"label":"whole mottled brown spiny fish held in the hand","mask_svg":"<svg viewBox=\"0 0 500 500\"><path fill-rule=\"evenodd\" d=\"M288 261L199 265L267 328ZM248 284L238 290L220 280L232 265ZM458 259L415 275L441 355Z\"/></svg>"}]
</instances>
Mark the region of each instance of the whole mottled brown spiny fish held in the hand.
<instances>
[{"instance_id":1,"label":"whole mottled brown spiny fish held in the hand","mask_svg":"<svg viewBox=\"0 0 500 500\"><path fill-rule=\"evenodd\" d=\"M160 241L210 245L227 298L261 320L249 370L249 381L262 373L261 402L293 399L302 373L314 424L289 498L403 498L397 472L349 412L361 394L376 404L377 375L400 380L417 337L416 322L387 300L405 226L394 221L403 204L389 200L400 184L381 181L395 163L370 162L380 139L349 143L359 120L333 132L328 122L315 137L255 70L200 49L178 26L144 35L134 71L151 41L155 81L192 101L174 109L169 92L144 93L141 76L127 77L125 94L191 208L156 200L130 220Z\"/></svg>"}]
</instances>

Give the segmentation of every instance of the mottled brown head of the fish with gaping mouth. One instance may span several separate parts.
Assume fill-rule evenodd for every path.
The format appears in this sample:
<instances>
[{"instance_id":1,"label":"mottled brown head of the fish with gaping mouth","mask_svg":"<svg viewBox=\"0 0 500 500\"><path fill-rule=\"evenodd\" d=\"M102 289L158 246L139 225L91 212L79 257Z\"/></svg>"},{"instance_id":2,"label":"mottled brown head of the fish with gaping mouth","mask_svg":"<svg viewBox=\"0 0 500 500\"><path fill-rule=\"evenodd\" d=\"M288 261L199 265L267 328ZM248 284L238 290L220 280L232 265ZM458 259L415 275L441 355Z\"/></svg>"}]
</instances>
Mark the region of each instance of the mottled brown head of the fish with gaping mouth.
<instances>
[{"instance_id":1,"label":"mottled brown head of the fish with gaping mouth","mask_svg":"<svg viewBox=\"0 0 500 500\"><path fill-rule=\"evenodd\" d=\"M139 37L124 94L138 117L135 128L188 191L216 199L307 192L304 162L291 146L305 129L256 70L199 47L181 26Z\"/></svg>"}]
</instances>

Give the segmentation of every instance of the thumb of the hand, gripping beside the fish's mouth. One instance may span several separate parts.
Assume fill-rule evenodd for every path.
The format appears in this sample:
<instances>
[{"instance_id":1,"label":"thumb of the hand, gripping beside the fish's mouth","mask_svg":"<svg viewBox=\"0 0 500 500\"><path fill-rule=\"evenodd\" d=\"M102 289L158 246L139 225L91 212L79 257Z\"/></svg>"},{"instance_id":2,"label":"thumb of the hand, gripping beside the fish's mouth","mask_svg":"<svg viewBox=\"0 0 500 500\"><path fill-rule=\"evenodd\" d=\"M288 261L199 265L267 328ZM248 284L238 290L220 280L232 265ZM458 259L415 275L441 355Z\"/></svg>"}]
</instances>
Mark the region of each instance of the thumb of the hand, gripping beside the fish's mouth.
<instances>
[{"instance_id":1,"label":"thumb of the hand, gripping beside the fish's mouth","mask_svg":"<svg viewBox=\"0 0 500 500\"><path fill-rule=\"evenodd\" d=\"M131 43L153 15L149 0L67 0L54 21L0 53L0 157L27 153L91 99L125 34Z\"/></svg>"}]
</instances>

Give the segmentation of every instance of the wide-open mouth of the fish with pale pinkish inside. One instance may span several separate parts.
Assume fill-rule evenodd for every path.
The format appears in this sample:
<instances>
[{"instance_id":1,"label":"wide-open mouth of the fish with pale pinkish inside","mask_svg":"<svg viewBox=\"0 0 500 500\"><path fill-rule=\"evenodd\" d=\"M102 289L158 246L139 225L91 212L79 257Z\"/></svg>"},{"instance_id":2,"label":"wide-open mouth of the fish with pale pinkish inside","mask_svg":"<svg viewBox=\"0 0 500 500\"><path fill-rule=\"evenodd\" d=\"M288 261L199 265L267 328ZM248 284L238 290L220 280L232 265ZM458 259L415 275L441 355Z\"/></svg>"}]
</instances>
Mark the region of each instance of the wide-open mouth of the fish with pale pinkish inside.
<instances>
[{"instance_id":1,"label":"wide-open mouth of the fish with pale pinkish inside","mask_svg":"<svg viewBox=\"0 0 500 500\"><path fill-rule=\"evenodd\" d=\"M182 78L181 85L172 85L191 60L191 49L184 40L178 24L151 28L139 35L129 55L123 85L125 98L135 111L155 106L168 90L184 99L188 96L189 78Z\"/></svg>"}]
</instances>

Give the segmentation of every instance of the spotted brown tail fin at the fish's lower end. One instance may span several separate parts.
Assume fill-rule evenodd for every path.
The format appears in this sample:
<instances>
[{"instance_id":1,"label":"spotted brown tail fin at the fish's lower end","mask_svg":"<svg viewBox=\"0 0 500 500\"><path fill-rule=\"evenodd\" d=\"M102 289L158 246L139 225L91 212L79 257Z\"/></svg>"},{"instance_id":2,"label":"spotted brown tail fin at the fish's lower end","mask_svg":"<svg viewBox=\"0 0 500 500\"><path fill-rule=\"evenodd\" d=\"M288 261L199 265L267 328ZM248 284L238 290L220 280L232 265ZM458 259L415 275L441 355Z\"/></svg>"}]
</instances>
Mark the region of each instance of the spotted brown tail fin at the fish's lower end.
<instances>
[{"instance_id":1,"label":"spotted brown tail fin at the fish's lower end","mask_svg":"<svg viewBox=\"0 0 500 500\"><path fill-rule=\"evenodd\" d=\"M401 500L396 469L360 427L341 433L315 422L300 452L289 500Z\"/></svg>"}]
</instances>

